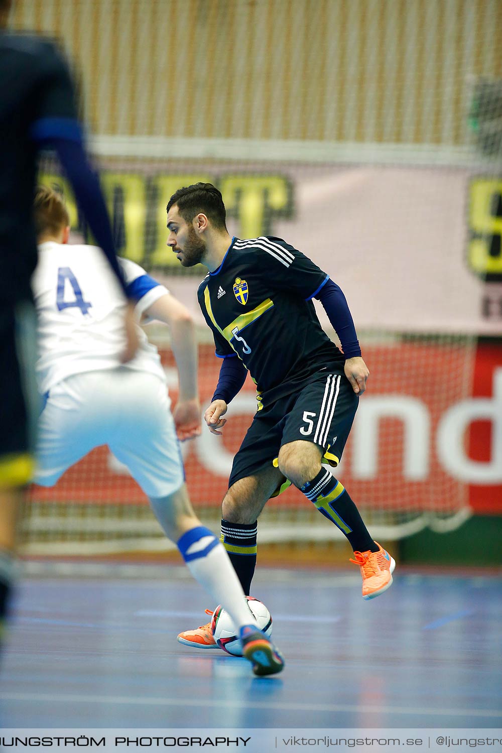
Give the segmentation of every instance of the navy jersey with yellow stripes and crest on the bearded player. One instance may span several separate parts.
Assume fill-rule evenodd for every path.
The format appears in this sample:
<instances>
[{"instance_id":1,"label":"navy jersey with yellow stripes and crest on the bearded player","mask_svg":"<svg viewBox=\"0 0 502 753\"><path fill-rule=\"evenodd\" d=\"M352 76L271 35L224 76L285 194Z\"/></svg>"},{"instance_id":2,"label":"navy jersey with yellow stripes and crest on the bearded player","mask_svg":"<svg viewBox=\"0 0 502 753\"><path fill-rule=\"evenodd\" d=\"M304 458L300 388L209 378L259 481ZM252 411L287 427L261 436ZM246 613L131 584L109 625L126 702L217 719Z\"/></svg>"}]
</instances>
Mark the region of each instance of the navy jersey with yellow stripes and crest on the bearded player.
<instances>
[{"instance_id":1,"label":"navy jersey with yellow stripes and crest on the bearded player","mask_svg":"<svg viewBox=\"0 0 502 753\"><path fill-rule=\"evenodd\" d=\"M328 276L280 238L234 238L218 270L199 285L216 355L238 355L270 404L345 358L324 333L312 297Z\"/></svg>"}]
</instances>

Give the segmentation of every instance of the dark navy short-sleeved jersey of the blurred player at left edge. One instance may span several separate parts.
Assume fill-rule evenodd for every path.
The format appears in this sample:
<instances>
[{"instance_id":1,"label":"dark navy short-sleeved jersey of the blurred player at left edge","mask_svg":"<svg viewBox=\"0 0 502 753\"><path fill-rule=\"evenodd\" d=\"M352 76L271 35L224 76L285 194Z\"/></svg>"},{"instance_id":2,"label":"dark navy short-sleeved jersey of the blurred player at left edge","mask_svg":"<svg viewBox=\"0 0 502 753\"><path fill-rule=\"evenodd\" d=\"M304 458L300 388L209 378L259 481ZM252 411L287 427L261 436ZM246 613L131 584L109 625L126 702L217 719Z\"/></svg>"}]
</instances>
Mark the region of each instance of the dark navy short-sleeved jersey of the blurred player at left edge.
<instances>
[{"instance_id":1,"label":"dark navy short-sleeved jersey of the blurred player at left edge","mask_svg":"<svg viewBox=\"0 0 502 753\"><path fill-rule=\"evenodd\" d=\"M76 118L74 87L56 46L0 32L0 304L31 295L37 133L44 123L64 131Z\"/></svg>"}]
</instances>

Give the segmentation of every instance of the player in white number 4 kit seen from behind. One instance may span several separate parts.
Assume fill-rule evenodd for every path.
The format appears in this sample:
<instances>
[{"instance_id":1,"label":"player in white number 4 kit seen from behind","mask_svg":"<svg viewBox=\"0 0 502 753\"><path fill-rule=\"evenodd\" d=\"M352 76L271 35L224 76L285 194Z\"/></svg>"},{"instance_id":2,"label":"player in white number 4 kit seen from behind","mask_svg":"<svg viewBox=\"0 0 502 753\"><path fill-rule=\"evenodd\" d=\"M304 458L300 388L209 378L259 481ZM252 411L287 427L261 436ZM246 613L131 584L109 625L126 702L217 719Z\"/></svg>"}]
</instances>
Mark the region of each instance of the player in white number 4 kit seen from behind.
<instances>
[{"instance_id":1,"label":"player in white number 4 kit seen from behind","mask_svg":"<svg viewBox=\"0 0 502 753\"><path fill-rule=\"evenodd\" d=\"M68 212L54 191L35 197L39 261L32 278L38 312L38 383L46 400L39 423L35 482L53 486L94 447L108 444L125 463L192 575L239 625L256 675L284 661L257 630L239 579L218 538L201 525L184 483L178 436L200 431L196 344L190 313L137 264L120 260L138 316L171 328L180 398L173 416L157 349L140 330L140 347L120 364L126 300L95 246L67 245ZM139 328L138 328L139 329ZM175 426L176 423L176 426Z\"/></svg>"}]
</instances>

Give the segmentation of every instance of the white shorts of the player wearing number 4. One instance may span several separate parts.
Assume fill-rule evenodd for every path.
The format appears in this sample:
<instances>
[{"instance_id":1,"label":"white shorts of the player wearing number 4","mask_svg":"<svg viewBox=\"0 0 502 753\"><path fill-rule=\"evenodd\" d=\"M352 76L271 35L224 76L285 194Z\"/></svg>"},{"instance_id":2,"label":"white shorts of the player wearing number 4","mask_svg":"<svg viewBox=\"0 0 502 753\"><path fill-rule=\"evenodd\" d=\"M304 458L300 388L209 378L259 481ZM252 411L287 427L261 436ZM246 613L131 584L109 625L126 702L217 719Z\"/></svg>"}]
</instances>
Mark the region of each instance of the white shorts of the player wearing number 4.
<instances>
[{"instance_id":1,"label":"white shorts of the player wearing number 4","mask_svg":"<svg viewBox=\"0 0 502 753\"><path fill-rule=\"evenodd\" d=\"M108 444L148 497L184 483L166 384L126 367L87 371L50 389L38 423L35 483L53 486L84 455Z\"/></svg>"}]
</instances>

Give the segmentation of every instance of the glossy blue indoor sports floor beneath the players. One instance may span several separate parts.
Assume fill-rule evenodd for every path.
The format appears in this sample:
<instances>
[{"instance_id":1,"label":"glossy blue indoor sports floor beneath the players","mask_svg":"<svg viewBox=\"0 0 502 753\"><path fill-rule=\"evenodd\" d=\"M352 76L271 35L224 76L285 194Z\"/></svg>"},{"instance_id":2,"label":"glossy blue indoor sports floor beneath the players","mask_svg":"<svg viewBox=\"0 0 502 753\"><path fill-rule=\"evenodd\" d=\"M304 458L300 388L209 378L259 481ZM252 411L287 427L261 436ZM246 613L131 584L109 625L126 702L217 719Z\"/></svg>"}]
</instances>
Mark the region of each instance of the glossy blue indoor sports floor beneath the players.
<instances>
[{"instance_id":1,"label":"glossy blue indoor sports floor beneath the players","mask_svg":"<svg viewBox=\"0 0 502 753\"><path fill-rule=\"evenodd\" d=\"M184 567L30 572L3 662L2 727L502 727L496 575L398 567L365 602L351 571L258 568L254 596L287 666L254 678L244 659L176 641L214 606Z\"/></svg>"}]
</instances>

